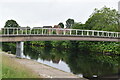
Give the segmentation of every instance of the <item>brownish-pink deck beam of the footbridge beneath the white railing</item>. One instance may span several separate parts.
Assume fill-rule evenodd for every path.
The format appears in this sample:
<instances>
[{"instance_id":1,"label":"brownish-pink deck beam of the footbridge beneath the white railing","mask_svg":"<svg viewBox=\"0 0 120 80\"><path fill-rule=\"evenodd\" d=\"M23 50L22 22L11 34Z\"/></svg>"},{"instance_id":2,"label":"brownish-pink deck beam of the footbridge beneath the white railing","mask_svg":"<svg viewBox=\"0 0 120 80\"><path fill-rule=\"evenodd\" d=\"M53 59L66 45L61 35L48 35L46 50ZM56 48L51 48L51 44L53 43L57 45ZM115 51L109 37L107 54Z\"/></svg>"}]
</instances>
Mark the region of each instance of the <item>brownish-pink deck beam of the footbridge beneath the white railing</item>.
<instances>
[{"instance_id":1,"label":"brownish-pink deck beam of the footbridge beneath the white railing","mask_svg":"<svg viewBox=\"0 0 120 80\"><path fill-rule=\"evenodd\" d=\"M120 38L80 36L80 35L0 35L0 42L17 41L51 41L51 40L80 40L80 41L114 41L120 42Z\"/></svg>"}]
</instances>

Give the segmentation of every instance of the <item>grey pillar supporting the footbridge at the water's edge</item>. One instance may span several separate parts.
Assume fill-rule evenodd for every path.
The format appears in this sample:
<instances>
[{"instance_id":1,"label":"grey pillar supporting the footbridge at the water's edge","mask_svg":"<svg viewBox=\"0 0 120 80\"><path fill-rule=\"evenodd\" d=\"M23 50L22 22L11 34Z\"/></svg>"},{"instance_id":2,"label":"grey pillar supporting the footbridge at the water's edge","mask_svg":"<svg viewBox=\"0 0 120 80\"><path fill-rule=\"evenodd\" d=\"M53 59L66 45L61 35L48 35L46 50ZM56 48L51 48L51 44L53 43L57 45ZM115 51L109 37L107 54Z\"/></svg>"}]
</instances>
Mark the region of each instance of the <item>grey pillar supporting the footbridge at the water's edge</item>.
<instances>
[{"instance_id":1,"label":"grey pillar supporting the footbridge at the water's edge","mask_svg":"<svg viewBox=\"0 0 120 80\"><path fill-rule=\"evenodd\" d=\"M16 43L16 57L23 58L24 42Z\"/></svg>"}]
</instances>

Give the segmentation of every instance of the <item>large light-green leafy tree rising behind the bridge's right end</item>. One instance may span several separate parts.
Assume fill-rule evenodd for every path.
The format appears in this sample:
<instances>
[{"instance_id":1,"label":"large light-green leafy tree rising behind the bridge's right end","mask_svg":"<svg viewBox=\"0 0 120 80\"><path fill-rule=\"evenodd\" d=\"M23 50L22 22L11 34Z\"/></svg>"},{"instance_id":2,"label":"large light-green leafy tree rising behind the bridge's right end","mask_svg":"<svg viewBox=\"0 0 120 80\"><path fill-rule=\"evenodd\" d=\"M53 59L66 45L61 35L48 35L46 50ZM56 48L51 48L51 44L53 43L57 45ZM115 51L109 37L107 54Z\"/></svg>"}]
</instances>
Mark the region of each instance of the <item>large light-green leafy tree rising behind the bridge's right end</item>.
<instances>
[{"instance_id":1,"label":"large light-green leafy tree rising behind the bridge's right end","mask_svg":"<svg viewBox=\"0 0 120 80\"><path fill-rule=\"evenodd\" d=\"M118 31L119 14L115 9L103 7L95 9L93 14L85 23L86 29ZM119 30L120 31L120 30Z\"/></svg>"}]
</instances>

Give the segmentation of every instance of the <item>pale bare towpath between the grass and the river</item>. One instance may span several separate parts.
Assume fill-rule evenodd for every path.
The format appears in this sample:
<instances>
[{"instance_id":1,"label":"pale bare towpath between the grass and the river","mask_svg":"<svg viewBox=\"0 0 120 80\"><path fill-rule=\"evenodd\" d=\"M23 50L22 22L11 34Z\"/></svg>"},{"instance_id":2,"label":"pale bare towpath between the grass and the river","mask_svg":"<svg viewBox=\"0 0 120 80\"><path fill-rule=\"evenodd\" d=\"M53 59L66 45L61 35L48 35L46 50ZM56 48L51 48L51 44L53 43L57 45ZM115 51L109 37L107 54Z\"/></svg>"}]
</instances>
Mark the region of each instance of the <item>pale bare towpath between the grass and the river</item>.
<instances>
[{"instance_id":1,"label":"pale bare towpath between the grass and the river","mask_svg":"<svg viewBox=\"0 0 120 80\"><path fill-rule=\"evenodd\" d=\"M29 70L32 71L32 73L37 74L41 78L79 78L78 76L72 73L67 73L67 72L58 70L56 68L52 68L50 66L35 62L33 60L19 59L12 54L3 53L3 55L15 61L17 64L20 64L28 68ZM15 63L12 62L12 64L15 64ZM86 80L86 79L79 78L79 80Z\"/></svg>"}]
</instances>

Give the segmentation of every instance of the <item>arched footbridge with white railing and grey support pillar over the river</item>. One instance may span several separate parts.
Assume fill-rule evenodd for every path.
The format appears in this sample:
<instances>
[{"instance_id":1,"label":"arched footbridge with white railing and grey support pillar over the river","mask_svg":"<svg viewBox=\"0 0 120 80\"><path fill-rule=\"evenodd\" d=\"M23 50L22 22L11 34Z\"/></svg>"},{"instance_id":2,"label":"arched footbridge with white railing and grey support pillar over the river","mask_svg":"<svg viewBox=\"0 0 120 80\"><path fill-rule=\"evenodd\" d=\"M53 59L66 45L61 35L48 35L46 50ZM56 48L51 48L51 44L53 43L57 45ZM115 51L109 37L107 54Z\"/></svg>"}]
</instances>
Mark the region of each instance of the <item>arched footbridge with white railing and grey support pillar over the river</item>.
<instances>
[{"instance_id":1,"label":"arched footbridge with white railing and grey support pillar over the river","mask_svg":"<svg viewBox=\"0 0 120 80\"><path fill-rule=\"evenodd\" d=\"M120 32L64 28L2 28L0 42L16 42L16 55L22 57L24 41L81 40L120 42Z\"/></svg>"}]
</instances>

